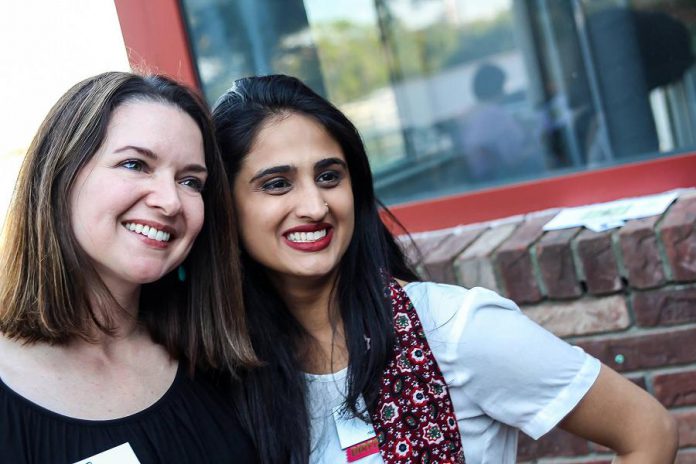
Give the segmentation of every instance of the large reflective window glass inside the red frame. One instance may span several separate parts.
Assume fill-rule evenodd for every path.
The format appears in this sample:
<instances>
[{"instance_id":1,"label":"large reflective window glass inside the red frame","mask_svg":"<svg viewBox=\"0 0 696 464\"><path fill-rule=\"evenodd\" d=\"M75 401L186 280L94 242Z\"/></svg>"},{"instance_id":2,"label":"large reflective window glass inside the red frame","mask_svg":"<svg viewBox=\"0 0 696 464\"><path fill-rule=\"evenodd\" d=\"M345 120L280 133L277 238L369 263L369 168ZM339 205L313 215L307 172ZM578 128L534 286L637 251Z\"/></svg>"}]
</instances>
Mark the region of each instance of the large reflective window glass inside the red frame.
<instances>
[{"instance_id":1,"label":"large reflective window glass inside the red frame","mask_svg":"<svg viewBox=\"0 0 696 464\"><path fill-rule=\"evenodd\" d=\"M184 0L203 91L286 73L388 204L696 149L691 0Z\"/></svg>"}]
</instances>

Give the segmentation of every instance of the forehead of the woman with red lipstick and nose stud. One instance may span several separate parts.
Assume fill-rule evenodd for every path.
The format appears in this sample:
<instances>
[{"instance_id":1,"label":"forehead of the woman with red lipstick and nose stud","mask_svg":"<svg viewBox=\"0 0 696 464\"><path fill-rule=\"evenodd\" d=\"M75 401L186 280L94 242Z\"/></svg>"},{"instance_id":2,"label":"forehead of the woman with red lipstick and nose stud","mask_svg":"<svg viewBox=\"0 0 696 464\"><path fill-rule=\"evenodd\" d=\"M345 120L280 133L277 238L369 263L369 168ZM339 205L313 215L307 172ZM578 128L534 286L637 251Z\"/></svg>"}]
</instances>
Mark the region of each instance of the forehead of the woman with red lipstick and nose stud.
<instances>
[{"instance_id":1,"label":"forehead of the woman with red lipstick and nose stud","mask_svg":"<svg viewBox=\"0 0 696 464\"><path fill-rule=\"evenodd\" d=\"M301 166L327 157L345 161L341 146L320 123L309 116L289 113L264 122L244 165L250 168Z\"/></svg>"}]
</instances>

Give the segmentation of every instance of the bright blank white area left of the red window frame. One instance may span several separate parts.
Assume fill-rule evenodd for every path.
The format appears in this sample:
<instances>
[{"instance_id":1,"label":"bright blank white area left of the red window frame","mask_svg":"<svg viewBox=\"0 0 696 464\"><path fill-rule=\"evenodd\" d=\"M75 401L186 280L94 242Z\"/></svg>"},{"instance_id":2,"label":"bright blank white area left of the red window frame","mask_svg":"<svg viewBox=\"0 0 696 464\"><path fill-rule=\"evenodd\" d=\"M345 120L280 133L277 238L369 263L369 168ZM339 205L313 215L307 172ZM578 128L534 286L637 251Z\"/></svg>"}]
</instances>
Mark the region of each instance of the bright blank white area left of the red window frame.
<instances>
[{"instance_id":1,"label":"bright blank white area left of the red window frame","mask_svg":"<svg viewBox=\"0 0 696 464\"><path fill-rule=\"evenodd\" d=\"M0 223L34 132L78 81L129 70L113 0L0 3Z\"/></svg>"}]
</instances>

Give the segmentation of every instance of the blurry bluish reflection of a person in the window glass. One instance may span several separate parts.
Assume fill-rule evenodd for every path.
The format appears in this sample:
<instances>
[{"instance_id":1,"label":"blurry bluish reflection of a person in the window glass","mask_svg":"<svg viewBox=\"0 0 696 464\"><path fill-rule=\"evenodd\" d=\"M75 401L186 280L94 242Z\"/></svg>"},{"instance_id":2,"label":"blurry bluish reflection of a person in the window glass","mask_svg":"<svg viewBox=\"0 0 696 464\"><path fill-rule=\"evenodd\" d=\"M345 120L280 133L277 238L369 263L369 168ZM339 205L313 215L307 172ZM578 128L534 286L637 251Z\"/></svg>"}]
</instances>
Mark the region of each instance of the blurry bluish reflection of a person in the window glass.
<instances>
[{"instance_id":1,"label":"blurry bluish reflection of a person in the window glass","mask_svg":"<svg viewBox=\"0 0 696 464\"><path fill-rule=\"evenodd\" d=\"M501 104L505 72L494 64L476 71L473 92L479 103L463 119L460 146L474 180L492 180L541 169L530 155L532 137Z\"/></svg>"}]
</instances>

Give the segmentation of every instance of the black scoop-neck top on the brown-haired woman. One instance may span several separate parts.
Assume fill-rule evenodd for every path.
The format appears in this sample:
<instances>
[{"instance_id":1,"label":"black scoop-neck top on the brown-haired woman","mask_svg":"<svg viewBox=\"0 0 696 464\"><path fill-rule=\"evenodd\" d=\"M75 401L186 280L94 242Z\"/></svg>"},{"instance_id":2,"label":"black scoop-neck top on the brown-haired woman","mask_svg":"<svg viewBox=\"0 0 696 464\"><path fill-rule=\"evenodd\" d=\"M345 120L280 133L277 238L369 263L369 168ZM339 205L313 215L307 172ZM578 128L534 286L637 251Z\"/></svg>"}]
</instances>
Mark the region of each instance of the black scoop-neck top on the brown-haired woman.
<instances>
[{"instance_id":1,"label":"black scoop-neck top on the brown-haired woman","mask_svg":"<svg viewBox=\"0 0 696 464\"><path fill-rule=\"evenodd\" d=\"M124 443L141 464L256 462L229 390L203 376L194 381L185 371L180 364L155 404L102 421L49 411L0 380L0 462L72 464Z\"/></svg>"}]
</instances>

